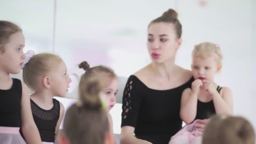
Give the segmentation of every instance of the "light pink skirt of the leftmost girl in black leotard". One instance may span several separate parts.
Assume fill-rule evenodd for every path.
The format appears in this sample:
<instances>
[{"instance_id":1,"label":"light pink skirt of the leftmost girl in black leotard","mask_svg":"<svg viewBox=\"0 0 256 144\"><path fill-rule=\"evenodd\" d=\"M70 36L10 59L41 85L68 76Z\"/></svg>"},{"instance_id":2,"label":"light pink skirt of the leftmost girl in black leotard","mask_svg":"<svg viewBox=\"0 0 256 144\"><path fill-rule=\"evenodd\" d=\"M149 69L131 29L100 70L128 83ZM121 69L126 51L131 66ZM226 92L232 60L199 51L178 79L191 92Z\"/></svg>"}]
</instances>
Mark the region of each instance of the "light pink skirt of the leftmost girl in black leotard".
<instances>
[{"instance_id":1,"label":"light pink skirt of the leftmost girl in black leotard","mask_svg":"<svg viewBox=\"0 0 256 144\"><path fill-rule=\"evenodd\" d=\"M0 144L26 144L17 127L0 126Z\"/></svg>"}]
</instances>

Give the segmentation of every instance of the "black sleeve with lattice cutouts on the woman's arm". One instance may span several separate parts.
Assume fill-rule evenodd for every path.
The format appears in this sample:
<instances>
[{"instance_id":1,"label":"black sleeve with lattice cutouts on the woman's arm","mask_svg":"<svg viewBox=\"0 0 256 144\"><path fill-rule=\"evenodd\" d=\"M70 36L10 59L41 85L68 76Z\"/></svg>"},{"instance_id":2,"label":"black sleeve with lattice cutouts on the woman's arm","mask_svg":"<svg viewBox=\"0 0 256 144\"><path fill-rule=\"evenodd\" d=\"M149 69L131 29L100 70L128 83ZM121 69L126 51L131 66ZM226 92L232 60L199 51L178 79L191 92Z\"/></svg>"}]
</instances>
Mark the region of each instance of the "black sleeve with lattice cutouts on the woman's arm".
<instances>
[{"instance_id":1,"label":"black sleeve with lattice cutouts on the woman's arm","mask_svg":"<svg viewBox=\"0 0 256 144\"><path fill-rule=\"evenodd\" d=\"M134 80L129 77L125 89L123 91L123 112L122 112L122 124L136 126L139 107L141 104L141 97L136 89Z\"/></svg>"}]
</instances>

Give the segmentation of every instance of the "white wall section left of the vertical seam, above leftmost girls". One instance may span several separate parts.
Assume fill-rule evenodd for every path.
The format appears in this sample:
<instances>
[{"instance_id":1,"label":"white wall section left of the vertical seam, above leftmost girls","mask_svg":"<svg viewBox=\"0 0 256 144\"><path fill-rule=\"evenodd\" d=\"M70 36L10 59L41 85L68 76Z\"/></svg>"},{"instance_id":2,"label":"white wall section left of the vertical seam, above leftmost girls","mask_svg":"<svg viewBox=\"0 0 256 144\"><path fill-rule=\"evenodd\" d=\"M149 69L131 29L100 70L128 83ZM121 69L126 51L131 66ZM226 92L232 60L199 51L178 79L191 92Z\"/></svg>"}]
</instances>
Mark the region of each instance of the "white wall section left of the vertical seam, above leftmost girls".
<instances>
[{"instance_id":1,"label":"white wall section left of the vertical seam, above leftmost girls","mask_svg":"<svg viewBox=\"0 0 256 144\"><path fill-rule=\"evenodd\" d=\"M26 49L52 51L53 0L0 0L0 19L23 29Z\"/></svg>"}]
</instances>

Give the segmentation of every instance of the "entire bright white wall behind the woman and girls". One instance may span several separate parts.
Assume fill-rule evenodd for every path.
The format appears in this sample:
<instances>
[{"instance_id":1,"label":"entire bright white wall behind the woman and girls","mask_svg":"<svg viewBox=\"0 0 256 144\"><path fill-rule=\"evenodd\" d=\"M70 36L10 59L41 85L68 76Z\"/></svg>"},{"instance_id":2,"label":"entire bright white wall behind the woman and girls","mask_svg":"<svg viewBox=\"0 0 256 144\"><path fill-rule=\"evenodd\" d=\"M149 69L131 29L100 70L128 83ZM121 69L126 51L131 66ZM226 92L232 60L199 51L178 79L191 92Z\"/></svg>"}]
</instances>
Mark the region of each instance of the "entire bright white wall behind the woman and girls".
<instances>
[{"instance_id":1,"label":"entire bright white wall behind the woman and girls","mask_svg":"<svg viewBox=\"0 0 256 144\"><path fill-rule=\"evenodd\" d=\"M200 1L206 5L200 6ZM0 19L22 27L26 49L53 51L54 38L54 50L79 75L82 71L77 64L87 60L91 66L105 64L125 77L150 61L146 48L149 21L175 7L183 25L176 63L190 69L195 44L218 43L224 67L216 82L232 89L235 115L247 117L256 126L256 0L58 0L55 37L53 2L0 0ZM119 123L117 115L113 119Z\"/></svg>"}]
</instances>

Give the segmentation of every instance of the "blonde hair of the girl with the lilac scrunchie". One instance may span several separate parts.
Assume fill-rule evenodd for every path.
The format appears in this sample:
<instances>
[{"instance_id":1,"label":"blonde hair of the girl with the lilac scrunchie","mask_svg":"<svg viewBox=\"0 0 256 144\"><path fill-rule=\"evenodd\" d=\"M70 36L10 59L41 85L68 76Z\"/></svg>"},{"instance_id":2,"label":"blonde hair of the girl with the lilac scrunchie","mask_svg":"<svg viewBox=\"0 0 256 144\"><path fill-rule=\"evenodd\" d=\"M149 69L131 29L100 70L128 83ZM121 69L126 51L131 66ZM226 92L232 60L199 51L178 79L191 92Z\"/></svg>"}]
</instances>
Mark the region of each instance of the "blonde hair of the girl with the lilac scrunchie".
<instances>
[{"instance_id":1,"label":"blonde hair of the girl with the lilac scrunchie","mask_svg":"<svg viewBox=\"0 0 256 144\"><path fill-rule=\"evenodd\" d=\"M61 57L53 53L40 53L33 56L23 68L23 80L29 88L35 90L38 86L38 77L47 75L47 72L60 63Z\"/></svg>"}]
</instances>

